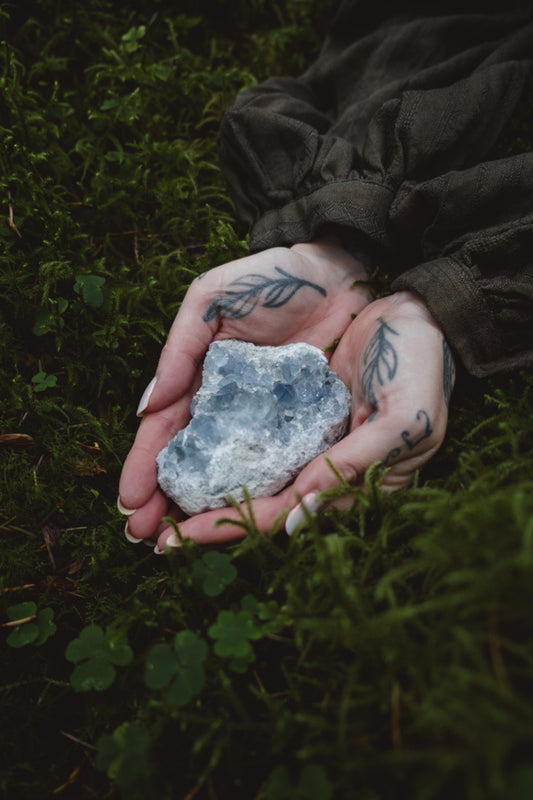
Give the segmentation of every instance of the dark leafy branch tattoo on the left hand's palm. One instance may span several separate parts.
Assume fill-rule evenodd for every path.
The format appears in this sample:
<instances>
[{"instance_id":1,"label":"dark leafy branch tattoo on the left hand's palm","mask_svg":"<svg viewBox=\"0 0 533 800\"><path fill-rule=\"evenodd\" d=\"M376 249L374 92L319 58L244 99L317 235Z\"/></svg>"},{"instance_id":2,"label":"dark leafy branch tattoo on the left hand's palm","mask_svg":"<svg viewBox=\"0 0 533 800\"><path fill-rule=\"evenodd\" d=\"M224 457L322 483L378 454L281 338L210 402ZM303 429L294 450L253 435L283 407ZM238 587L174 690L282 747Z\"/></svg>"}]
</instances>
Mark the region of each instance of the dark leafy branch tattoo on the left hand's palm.
<instances>
[{"instance_id":1,"label":"dark leafy branch tattoo on the left hand's palm","mask_svg":"<svg viewBox=\"0 0 533 800\"><path fill-rule=\"evenodd\" d=\"M263 308L280 308L304 286L326 297L327 292L322 286L304 278L296 278L281 267L274 269L280 277L266 278L252 272L232 281L224 294L217 295L211 301L202 317L203 321L210 322L218 314L227 319L242 319L251 314L258 303Z\"/></svg>"}]
</instances>

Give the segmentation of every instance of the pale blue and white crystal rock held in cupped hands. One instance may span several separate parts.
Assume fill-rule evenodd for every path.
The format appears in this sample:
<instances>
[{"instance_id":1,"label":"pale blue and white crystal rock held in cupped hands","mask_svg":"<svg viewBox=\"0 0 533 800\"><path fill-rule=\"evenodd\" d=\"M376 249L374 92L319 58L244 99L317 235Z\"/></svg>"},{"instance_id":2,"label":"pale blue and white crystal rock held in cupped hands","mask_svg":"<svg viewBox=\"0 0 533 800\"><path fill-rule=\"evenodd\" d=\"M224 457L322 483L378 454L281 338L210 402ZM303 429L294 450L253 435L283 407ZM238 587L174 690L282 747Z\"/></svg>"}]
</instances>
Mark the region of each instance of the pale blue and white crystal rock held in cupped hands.
<instances>
[{"instance_id":1,"label":"pale blue and white crystal rock held in cupped hands","mask_svg":"<svg viewBox=\"0 0 533 800\"><path fill-rule=\"evenodd\" d=\"M213 342L192 419L159 453L162 490L187 514L269 497L338 441L350 392L309 344Z\"/></svg>"}]
</instances>

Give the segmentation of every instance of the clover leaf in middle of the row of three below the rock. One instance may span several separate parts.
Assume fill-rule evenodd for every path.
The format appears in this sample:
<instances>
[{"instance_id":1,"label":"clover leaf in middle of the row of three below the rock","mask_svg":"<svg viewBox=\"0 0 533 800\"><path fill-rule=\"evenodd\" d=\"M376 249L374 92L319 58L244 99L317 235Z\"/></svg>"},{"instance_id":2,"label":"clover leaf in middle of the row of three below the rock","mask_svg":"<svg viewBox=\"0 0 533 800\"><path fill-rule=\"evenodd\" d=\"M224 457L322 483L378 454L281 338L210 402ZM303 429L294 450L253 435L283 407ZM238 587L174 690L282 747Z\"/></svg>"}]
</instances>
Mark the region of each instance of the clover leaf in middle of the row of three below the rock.
<instances>
[{"instance_id":1,"label":"clover leaf in middle of the row of three below the rock","mask_svg":"<svg viewBox=\"0 0 533 800\"><path fill-rule=\"evenodd\" d=\"M206 642L193 631L181 631L174 637L172 647L169 644L156 644L148 652L146 685L150 689L162 689L170 683L170 702L184 706L204 687L202 665L206 658Z\"/></svg>"}]
</instances>

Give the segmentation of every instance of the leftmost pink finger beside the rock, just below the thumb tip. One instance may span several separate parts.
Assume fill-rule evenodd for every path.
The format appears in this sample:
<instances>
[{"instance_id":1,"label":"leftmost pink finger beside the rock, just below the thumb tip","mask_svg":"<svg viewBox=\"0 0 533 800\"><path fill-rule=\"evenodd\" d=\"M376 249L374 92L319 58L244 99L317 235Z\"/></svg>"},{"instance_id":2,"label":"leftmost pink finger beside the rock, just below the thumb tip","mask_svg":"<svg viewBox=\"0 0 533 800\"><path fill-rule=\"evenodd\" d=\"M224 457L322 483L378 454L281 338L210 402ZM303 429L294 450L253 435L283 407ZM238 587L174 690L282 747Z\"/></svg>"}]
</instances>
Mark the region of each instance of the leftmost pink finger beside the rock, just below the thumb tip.
<instances>
[{"instance_id":1,"label":"leftmost pink finger beside the rock, just below the thumb tip","mask_svg":"<svg viewBox=\"0 0 533 800\"><path fill-rule=\"evenodd\" d=\"M191 396L192 391L168 408L148 414L142 420L120 476L119 497L123 507L140 508L156 490L157 454L187 425Z\"/></svg>"}]
</instances>

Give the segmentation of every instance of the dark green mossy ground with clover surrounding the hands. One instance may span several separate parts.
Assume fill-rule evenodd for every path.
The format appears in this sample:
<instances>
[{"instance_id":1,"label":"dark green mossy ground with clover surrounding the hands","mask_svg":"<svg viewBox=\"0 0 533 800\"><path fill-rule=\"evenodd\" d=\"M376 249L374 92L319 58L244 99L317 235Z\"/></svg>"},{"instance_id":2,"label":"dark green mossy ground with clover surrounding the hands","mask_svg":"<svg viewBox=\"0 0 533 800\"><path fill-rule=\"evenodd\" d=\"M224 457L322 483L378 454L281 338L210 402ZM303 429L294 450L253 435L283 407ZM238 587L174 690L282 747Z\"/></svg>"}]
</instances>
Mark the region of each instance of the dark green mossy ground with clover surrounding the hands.
<instances>
[{"instance_id":1,"label":"dark green mossy ground with clover surrounding the hands","mask_svg":"<svg viewBox=\"0 0 533 800\"><path fill-rule=\"evenodd\" d=\"M246 253L216 157L314 0L0 5L0 795L533 797L529 375L462 377L416 486L155 557L115 501L191 279ZM526 96L499 153L529 148ZM25 621L24 621L25 620Z\"/></svg>"}]
</instances>

